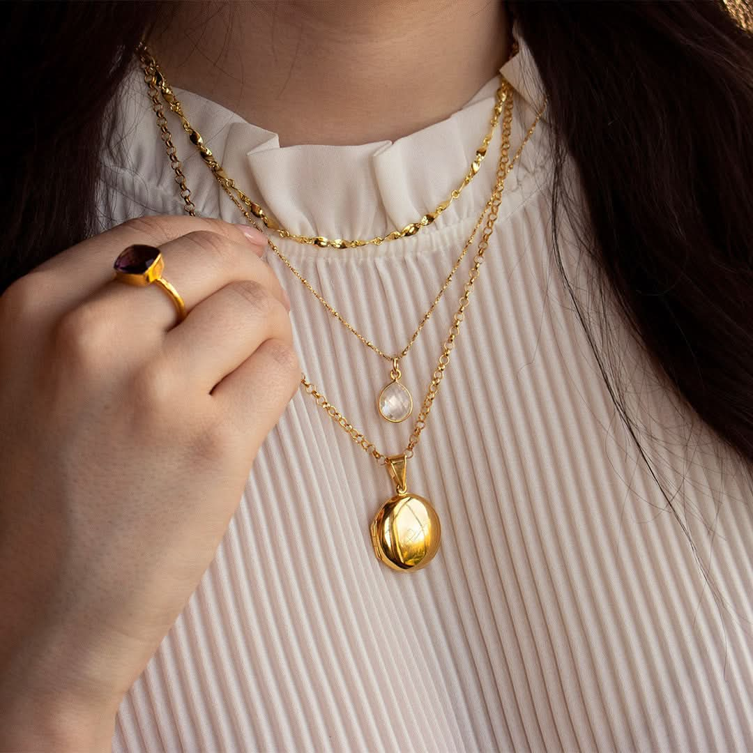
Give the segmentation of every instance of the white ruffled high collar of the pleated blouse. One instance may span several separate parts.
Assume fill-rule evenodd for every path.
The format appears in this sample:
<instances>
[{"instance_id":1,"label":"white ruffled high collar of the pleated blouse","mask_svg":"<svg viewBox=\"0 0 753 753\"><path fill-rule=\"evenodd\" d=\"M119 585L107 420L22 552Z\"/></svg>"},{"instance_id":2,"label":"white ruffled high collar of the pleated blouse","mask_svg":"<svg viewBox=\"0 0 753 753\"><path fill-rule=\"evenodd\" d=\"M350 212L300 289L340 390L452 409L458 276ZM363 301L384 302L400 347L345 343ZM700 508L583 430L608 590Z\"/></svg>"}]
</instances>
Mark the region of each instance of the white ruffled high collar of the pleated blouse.
<instances>
[{"instance_id":1,"label":"white ruffled high collar of the pleated blouse","mask_svg":"<svg viewBox=\"0 0 753 753\"><path fill-rule=\"evenodd\" d=\"M518 41L518 51L500 69L515 91L511 156L544 101L535 60L518 33L517 23L513 26L513 36ZM140 86L143 90L143 81ZM175 93L188 119L202 133L226 172L284 227L306 236L367 238L416 221L458 187L488 130L497 87L498 76L494 76L450 117L395 142L352 146L281 147L276 133L248 123L216 102L177 87ZM145 92L143 99L148 107ZM546 112L541 120L546 123ZM171 128L174 138L180 137L176 145L190 176L189 184L197 187L196 176L208 172L206 166L182 130L174 125ZM508 175L505 194L516 189L522 175L536 169L542 158L538 144L544 129L540 121L538 135L529 140L519 164ZM459 200L422 233L441 230L471 216L477 218L495 183L500 138L501 124L495 130L480 171L465 187ZM156 136L154 145L157 153L152 158L163 160L162 170L169 170L163 144ZM163 172L163 175L168 177L169 173ZM216 181L200 181L200 187L194 190L197 208L214 206L225 220L241 221L238 209L230 200L216 194L222 194ZM288 244L307 248L291 241ZM369 255L376 248L339 252L317 248L316 253L320 257L344 252Z\"/></svg>"}]
</instances>

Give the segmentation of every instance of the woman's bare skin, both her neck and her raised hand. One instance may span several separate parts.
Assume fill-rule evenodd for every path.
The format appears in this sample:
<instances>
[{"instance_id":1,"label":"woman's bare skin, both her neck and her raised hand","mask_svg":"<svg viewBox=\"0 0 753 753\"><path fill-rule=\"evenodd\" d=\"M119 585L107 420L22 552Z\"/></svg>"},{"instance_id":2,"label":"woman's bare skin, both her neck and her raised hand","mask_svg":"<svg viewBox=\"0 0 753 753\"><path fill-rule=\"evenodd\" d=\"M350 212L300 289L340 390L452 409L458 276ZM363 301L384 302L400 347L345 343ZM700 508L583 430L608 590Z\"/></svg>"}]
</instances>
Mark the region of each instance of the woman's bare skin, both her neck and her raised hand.
<instances>
[{"instance_id":1,"label":"woman's bare skin, both her neck and her raised hand","mask_svg":"<svg viewBox=\"0 0 753 753\"><path fill-rule=\"evenodd\" d=\"M482 0L194 2L171 18L152 40L169 81L282 145L398 139L460 108L509 49L501 4ZM112 280L131 243L160 247L183 322L157 285ZM0 296L0 749L109 751L212 562L300 380L262 248L221 221L142 218Z\"/></svg>"}]
</instances>

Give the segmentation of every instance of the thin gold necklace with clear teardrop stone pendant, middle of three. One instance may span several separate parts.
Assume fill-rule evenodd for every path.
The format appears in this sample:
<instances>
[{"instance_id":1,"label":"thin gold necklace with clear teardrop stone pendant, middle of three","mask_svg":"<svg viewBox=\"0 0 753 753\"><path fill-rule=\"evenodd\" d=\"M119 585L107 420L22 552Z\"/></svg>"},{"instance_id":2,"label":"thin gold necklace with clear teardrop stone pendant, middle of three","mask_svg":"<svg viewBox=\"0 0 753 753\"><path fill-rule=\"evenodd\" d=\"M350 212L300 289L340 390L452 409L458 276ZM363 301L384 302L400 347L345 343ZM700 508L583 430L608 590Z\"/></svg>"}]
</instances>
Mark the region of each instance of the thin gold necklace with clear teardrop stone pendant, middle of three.
<instances>
[{"instance_id":1,"label":"thin gold necklace with clear teardrop stone pendant, middle of three","mask_svg":"<svg viewBox=\"0 0 753 753\"><path fill-rule=\"evenodd\" d=\"M514 41L514 49L517 49L517 41ZM252 218L252 216L249 214L248 204L250 200L248 200L248 197L246 197L245 194L240 191L238 187L236 187L233 179L227 177L227 173L224 172L221 164L218 163L214 159L214 157L212 157L212 151L210 151L209 148L204 144L201 134L197 130L195 130L194 127L191 126L191 123L189 123L189 121L187 120L181 102L178 101L178 99L175 97L175 94L170 89L169 84L167 83L163 73L160 70L157 60L153 55L151 55L151 53L148 52L148 48L145 44L141 44L137 52L139 53L139 59L141 60L142 66L145 71L145 82L149 87L149 95L152 100L152 107L154 108L155 114L157 114L158 124L161 123L160 129L162 129L163 126L166 125L166 119L164 117L164 113L159 101L159 94L161 93L172 111L174 111L175 114L180 117L183 129L189 136L189 139L191 139L191 142L197 147L198 151L204 158L204 162L215 175L215 178L217 178L218 183L221 185L223 190L227 193L230 199L233 200L233 203L235 203L235 205L238 207L240 212L242 212L248 222L258 230L261 230L261 228L258 227L258 224L255 223L254 218ZM504 105L509 88L509 84L507 81L505 81L504 77L500 75L500 78L502 79L502 83L500 87L498 87L496 93L497 104L495 105L495 116L492 118L492 123L494 124L498 122L498 111ZM511 163L508 165L508 172L512 169L512 166L520 156L520 153L523 150L523 146L526 144L529 136L531 136L536 122L538 122L538 117L533 123L533 126L529 129L529 133L526 134L525 139L523 139L523 142L521 143L520 148L518 148L516 154L511 160ZM507 138L509 137L509 126L510 123L503 123L503 131L505 129L508 129L505 132ZM163 138L166 135L169 137L169 131L163 133ZM484 139L484 153L486 153L486 146L489 144L491 137L492 133L489 133ZM175 149L175 147L172 145L172 142L170 142L170 145L167 148L172 150ZM472 172L475 175L477 169L474 169ZM182 172L179 175L176 174L176 177L178 177L179 180L182 180L184 178ZM181 184L181 189L182 187L183 186ZM234 195L233 191L235 191L237 195ZM194 207L191 203L190 195L188 197L184 196L184 191L181 190L181 196L184 197L186 211L193 211ZM239 197L241 198L239 199ZM491 200L489 200L489 202L490 201ZM319 300L320 303L322 303L322 306L325 306L325 309L327 309L335 319L337 319L344 327L346 327L346 329L352 332L355 337L358 337L358 340L361 340L361 343L364 343L365 346L373 350L373 352L376 352L377 355L380 355L381 358L384 358L386 359L386 361L389 361L391 363L392 367L389 372L390 381L385 386L383 386L376 401L378 413L383 417L383 419L386 419L389 422L402 422L409 418L413 413L413 395L411 395L410 390L407 389L407 387L401 382L402 372L400 368L400 360L401 358L404 358L405 355L407 355L407 352L413 346L413 343L416 341L416 338L422 331L423 326L428 321L432 312L434 312L434 309L437 306L437 303L439 303L439 300L444 294L444 291L446 291L447 287L450 285L450 282L452 281L456 270L460 266L462 260L465 258L465 254L466 252L468 252L468 248L470 248L471 243L474 241L477 230L480 227L481 222L483 221L483 216L486 214L487 209L489 209L489 202L486 203L483 212L481 213L473 231L471 232L471 236L468 238L468 241L465 242L462 252L456 259L455 264L453 264L453 267L450 270L450 273L447 275L447 278L445 279L439 293L436 295L436 297L434 297L434 300L432 301L428 310L425 312L424 316L422 316L422 319L419 321L419 325L416 327L416 330L413 331L413 335L410 337L410 340L408 340L407 345L400 352L394 354L384 352L383 349L373 343L372 340L367 340L366 337L358 332L358 330L355 329L355 327L351 325L343 316L341 316L340 312L338 312L337 309L335 309L334 306L331 305L331 303L325 300L322 294L319 293L319 291L317 291L316 288L314 288L311 283L303 277L303 275L293 266L293 264L291 264L288 258L282 254L282 252L271 241L271 239L269 240L269 245L271 248L273 248L273 251L276 253L276 255L281 259L285 266L288 267L289 270L291 270L291 272L297 277L297 279L299 279L300 282L309 290L309 292L311 292L311 294L316 297L316 299ZM449 203L447 206L449 206ZM253 210L251 210L251 213L254 214ZM287 231L285 232L287 233ZM365 243L366 242L361 241L358 242L359 245L364 245Z\"/></svg>"}]
</instances>

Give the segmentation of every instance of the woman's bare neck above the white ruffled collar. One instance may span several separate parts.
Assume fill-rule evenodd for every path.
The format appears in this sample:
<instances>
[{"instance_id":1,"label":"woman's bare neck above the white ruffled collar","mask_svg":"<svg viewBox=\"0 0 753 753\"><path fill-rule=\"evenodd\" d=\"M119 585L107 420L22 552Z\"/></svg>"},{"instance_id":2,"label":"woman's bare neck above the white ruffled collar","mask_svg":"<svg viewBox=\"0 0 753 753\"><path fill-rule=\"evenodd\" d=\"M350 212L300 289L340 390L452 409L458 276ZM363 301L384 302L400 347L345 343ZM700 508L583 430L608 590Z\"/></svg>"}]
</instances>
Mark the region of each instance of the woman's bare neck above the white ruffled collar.
<instances>
[{"instance_id":1,"label":"woman's bare neck above the white ruffled collar","mask_svg":"<svg viewBox=\"0 0 753 753\"><path fill-rule=\"evenodd\" d=\"M172 86L280 145L348 145L461 108L508 58L510 31L501 0L181 2L149 41Z\"/></svg>"}]
</instances>

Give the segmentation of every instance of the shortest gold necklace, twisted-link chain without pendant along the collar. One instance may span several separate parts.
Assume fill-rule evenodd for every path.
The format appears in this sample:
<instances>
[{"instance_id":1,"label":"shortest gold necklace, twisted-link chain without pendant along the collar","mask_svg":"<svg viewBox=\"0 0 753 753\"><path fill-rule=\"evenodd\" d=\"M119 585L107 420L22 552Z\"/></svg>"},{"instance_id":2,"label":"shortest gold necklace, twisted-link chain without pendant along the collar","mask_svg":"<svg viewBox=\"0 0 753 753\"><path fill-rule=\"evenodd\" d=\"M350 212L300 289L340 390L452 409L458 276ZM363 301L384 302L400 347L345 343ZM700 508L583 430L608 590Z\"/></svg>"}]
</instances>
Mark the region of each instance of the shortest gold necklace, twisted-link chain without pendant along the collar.
<instances>
[{"instance_id":1,"label":"shortest gold necklace, twisted-link chain without pendant along the collar","mask_svg":"<svg viewBox=\"0 0 753 753\"><path fill-rule=\"evenodd\" d=\"M514 41L511 48L511 56L517 52L517 49L517 41ZM494 105L494 111L492 113L492 120L489 123L489 132L486 133L486 136L483 137L483 141L481 142L480 147L477 148L474 159L471 162L470 168L468 169L468 173L465 175L465 178L463 178L463 181L459 185L459 187L457 187L450 194L450 198L438 204L437 208L434 209L434 212L427 212L420 220L416 222L410 222L402 230L392 230L392 232L387 233L386 236L375 236L370 240L348 240L343 238L330 239L323 236L302 236L297 235L297 233L291 233L289 230L285 230L285 228L282 227L275 219L271 218L258 203L256 203L245 193L243 193L243 191L241 191L241 189L236 186L232 178L229 178L227 176L227 173L222 168L221 163L219 163L218 160L215 159L212 151L204 144L201 134L191 126L191 123L188 122L187 117L183 112L183 108L181 107L181 103L178 102L175 93L173 93L172 89L167 84L167 81L165 81L157 60L154 59L154 56L149 52L145 42L139 44L137 52L139 54L139 59L141 60L142 65L149 66L153 71L154 86L162 93L162 96L169 105L169 108L181 119L183 130L188 134L188 138L191 139L191 142L197 147L201 156L203 157L203 160L207 163L209 168L212 169L212 172L215 173L218 180L221 181L224 187L227 187L227 189L230 189L230 191L235 191L237 198L241 203L245 204L245 206L248 207L252 215L264 222L267 228L273 230L273 232L279 233L279 236L281 238L290 238L291 240L294 240L298 243L303 243L305 245L318 245L322 248L356 248L358 246L369 245L372 243L373 245L380 245L386 241L415 235L419 232L419 230L421 230L422 227L426 227L428 224L434 222L434 220L439 217L439 215L441 215L441 213L444 212L444 210L447 209L447 207L450 206L450 204L453 203L454 200L460 197L462 190L471 182L471 180L474 178L474 175L479 172L483 158L486 157L486 149L489 147L489 142L491 142L492 140L492 134L494 133L494 129L497 127L499 116L502 113L503 90L500 85L500 87L496 91L496 102ZM503 78L501 74L499 75L499 78L501 81Z\"/></svg>"}]
</instances>

